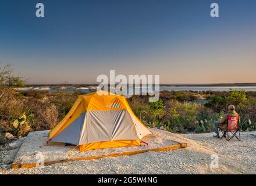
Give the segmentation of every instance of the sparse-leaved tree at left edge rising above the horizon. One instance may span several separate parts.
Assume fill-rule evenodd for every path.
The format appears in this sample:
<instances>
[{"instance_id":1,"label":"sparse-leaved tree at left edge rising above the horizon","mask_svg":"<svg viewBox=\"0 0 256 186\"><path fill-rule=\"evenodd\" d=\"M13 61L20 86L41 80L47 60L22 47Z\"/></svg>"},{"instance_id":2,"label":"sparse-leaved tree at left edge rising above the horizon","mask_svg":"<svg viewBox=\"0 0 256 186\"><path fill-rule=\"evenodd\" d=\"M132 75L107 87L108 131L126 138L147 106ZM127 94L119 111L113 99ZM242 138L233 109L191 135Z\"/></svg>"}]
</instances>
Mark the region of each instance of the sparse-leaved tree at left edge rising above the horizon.
<instances>
[{"instance_id":1,"label":"sparse-leaved tree at left edge rising above the horizon","mask_svg":"<svg viewBox=\"0 0 256 186\"><path fill-rule=\"evenodd\" d=\"M0 109L10 99L14 87L24 87L22 78L12 73L10 65L0 67Z\"/></svg>"}]
</instances>

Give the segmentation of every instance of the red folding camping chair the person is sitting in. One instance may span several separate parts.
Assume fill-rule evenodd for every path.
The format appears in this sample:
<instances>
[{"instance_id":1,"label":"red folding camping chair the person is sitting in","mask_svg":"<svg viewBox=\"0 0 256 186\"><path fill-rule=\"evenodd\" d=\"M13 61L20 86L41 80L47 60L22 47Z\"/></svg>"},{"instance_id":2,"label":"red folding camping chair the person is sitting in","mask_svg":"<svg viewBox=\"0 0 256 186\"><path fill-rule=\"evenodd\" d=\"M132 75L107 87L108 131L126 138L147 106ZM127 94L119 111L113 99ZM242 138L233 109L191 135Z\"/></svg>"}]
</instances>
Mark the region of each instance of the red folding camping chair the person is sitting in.
<instances>
[{"instance_id":1,"label":"red folding camping chair the person is sitting in","mask_svg":"<svg viewBox=\"0 0 256 186\"><path fill-rule=\"evenodd\" d=\"M230 141L232 140L232 138L236 137L237 140L241 141L238 117L239 116L236 116L236 117L227 116L227 127L223 128L219 126L219 130L223 134L221 139L225 137L227 141ZM239 133L239 136L237 136L237 133Z\"/></svg>"}]
</instances>

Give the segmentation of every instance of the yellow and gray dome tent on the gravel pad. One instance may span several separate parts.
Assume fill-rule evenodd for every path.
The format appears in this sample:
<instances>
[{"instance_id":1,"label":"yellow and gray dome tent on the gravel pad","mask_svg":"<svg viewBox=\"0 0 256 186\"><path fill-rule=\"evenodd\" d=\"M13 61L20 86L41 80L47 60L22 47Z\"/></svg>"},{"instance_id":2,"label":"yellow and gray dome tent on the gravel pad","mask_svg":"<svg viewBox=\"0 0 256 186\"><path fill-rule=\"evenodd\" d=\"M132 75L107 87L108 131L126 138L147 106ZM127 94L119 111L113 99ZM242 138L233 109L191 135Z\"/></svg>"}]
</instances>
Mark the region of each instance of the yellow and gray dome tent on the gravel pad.
<instances>
[{"instance_id":1,"label":"yellow and gray dome tent on the gravel pad","mask_svg":"<svg viewBox=\"0 0 256 186\"><path fill-rule=\"evenodd\" d=\"M105 91L81 95L49 132L52 142L77 145L80 151L140 145L152 134L134 115L124 96Z\"/></svg>"}]
</instances>

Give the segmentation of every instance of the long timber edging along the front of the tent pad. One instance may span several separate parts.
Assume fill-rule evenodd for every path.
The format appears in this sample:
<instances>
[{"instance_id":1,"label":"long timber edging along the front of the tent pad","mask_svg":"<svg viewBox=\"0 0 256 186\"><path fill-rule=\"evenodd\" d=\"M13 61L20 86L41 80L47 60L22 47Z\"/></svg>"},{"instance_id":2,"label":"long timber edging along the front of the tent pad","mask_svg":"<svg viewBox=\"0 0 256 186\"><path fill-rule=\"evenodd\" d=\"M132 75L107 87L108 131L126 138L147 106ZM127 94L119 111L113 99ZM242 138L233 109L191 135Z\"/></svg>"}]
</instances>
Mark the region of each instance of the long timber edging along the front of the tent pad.
<instances>
[{"instance_id":1,"label":"long timber edging along the front of the tent pad","mask_svg":"<svg viewBox=\"0 0 256 186\"><path fill-rule=\"evenodd\" d=\"M106 157L118 157L118 156L131 156L136 155L138 153L145 153L145 152L157 152L157 151L172 151L180 148L186 148L186 143L178 143L177 145L170 145L170 146L164 146L161 148L155 148L155 149L144 149L139 151L130 151L130 152L122 152L122 153L112 153L107 155L95 155L95 156L87 156L87 157L81 157L81 158L70 158L70 159L63 159L63 160L54 160L49 162L44 162L44 166L49 166L51 164L56 163L64 163L64 162L74 162L79 160L92 160L92 159L99 159L99 158L106 158ZM36 163L15 163L12 164L12 169L19 169L19 168L33 168L36 167Z\"/></svg>"}]
</instances>

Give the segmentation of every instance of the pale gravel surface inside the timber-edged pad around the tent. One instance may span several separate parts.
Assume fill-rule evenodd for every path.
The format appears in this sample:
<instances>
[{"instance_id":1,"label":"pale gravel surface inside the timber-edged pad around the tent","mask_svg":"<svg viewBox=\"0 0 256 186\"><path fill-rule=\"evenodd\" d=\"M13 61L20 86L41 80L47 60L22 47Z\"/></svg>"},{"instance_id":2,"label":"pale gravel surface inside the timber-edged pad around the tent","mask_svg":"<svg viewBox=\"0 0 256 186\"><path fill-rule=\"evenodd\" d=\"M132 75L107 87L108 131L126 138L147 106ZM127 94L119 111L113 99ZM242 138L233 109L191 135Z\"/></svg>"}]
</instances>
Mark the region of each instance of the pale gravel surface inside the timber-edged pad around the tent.
<instances>
[{"instance_id":1,"label":"pale gravel surface inside the timber-edged pad around the tent","mask_svg":"<svg viewBox=\"0 0 256 186\"><path fill-rule=\"evenodd\" d=\"M177 145L176 142L172 141L170 135L159 133L155 131L155 135L158 137L152 136L147 138L147 141L150 145L147 146L142 144L141 146L127 146L125 148L106 148L106 149L97 149L94 151L84 151L79 152L79 149L75 145L65 146L59 143L50 143L47 144L49 131L36 131L29 133L26 140L24 140L22 146L19 149L19 152L16 155L16 158L13 163L35 163L38 160L38 153L44 156L45 162L54 161L54 160L63 160L70 158L79 158L79 157L88 157L95 155L108 155L112 153L120 152L130 152L138 151L144 149L153 149L160 148L169 145ZM72 154L69 156L69 152L72 151Z\"/></svg>"}]
</instances>

